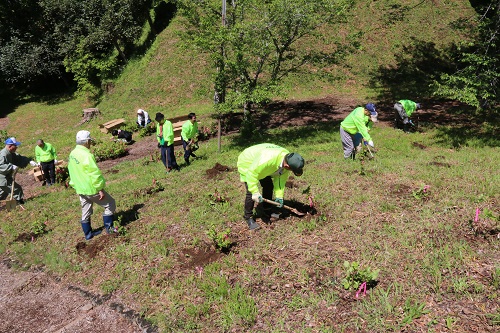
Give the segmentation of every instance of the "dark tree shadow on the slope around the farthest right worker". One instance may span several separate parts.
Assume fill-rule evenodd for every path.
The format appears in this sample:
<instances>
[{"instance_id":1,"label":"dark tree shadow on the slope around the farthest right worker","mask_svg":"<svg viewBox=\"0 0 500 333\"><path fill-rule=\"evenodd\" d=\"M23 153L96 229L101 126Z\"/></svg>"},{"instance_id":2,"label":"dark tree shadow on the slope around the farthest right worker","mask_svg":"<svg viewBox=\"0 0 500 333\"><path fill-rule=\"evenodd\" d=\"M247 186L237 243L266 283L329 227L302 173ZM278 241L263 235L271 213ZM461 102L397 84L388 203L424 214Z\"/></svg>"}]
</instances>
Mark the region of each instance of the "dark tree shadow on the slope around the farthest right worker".
<instances>
[{"instance_id":1,"label":"dark tree shadow on the slope around the farthest right worker","mask_svg":"<svg viewBox=\"0 0 500 333\"><path fill-rule=\"evenodd\" d=\"M413 40L396 54L397 64L381 66L370 80L370 86L380 91L378 95L379 119L394 118L393 105L401 99L410 99L423 104L423 109L414 118L431 127L437 125L437 143L458 148L464 145L476 147L499 145L498 121L476 115L471 106L448 100L432 99L432 84L443 73L455 70L453 54L456 48L437 49L431 42ZM447 125L446 127L442 125Z\"/></svg>"}]
</instances>

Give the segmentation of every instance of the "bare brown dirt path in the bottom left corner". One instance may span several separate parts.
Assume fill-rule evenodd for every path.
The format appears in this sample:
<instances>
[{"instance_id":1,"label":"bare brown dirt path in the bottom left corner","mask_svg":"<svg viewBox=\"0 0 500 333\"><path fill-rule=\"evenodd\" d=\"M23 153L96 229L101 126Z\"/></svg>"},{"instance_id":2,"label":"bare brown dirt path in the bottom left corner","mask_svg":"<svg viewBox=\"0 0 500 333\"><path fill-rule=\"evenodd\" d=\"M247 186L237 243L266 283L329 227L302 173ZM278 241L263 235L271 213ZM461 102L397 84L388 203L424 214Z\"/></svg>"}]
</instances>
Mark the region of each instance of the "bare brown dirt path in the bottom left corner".
<instances>
[{"instance_id":1,"label":"bare brown dirt path in the bottom left corner","mask_svg":"<svg viewBox=\"0 0 500 333\"><path fill-rule=\"evenodd\" d=\"M0 332L157 332L119 300L0 262Z\"/></svg>"}]
</instances>

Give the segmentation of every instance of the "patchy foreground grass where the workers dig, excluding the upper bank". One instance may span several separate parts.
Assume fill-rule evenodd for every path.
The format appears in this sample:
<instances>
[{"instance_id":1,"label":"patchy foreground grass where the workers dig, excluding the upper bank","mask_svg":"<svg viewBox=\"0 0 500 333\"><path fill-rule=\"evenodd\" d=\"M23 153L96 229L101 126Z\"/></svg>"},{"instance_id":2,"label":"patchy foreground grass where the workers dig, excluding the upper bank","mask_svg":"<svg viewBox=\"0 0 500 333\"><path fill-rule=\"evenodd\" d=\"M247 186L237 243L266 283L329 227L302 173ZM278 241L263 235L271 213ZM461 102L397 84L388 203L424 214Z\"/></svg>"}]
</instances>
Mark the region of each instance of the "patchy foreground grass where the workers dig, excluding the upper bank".
<instances>
[{"instance_id":1,"label":"patchy foreground grass where the workers dig, excluding the upper bank","mask_svg":"<svg viewBox=\"0 0 500 333\"><path fill-rule=\"evenodd\" d=\"M270 136L288 131L275 130ZM307 331L306 324L289 320L292 313L325 329L398 331L429 318L456 328L456 317L445 316L427 301L466 299L486 306L484 296L497 292L498 269L490 279L471 274L493 264L498 249L483 243L483 236L473 236L469 220L478 198L480 207L496 212L499 175L490 166L498 149L450 149L432 141L436 130L403 135L379 127L373 132L379 151L374 160L363 162L364 176L360 161L343 160L334 129L329 143L321 131L311 134L311 143L291 142L305 157L306 169L294 179L298 188L287 189L286 199L307 202L302 191L310 186L320 211L310 219L282 220L272 229L248 233L237 172L221 179L205 177L215 162L235 166L241 148L225 137L222 153L217 153L216 140L205 142L202 158L178 174L164 176L159 162L144 165L140 159L105 173L117 214L133 211L135 217L126 214L126 234L92 259L76 253L75 245L83 240L80 209L73 190L63 188L28 201L26 211L9 213L1 226L0 249L23 266L44 265L102 293L120 291L164 331L246 330L262 320L281 331ZM450 167L430 165L436 156ZM153 177L165 191L137 196ZM429 194L416 198L413 193L423 184L430 185ZM227 202L210 203L216 190ZM50 213L41 209L47 205ZM96 226L102 223L98 209ZM29 232L26 220L47 220L49 232L34 242L13 242ZM186 270L183 249L212 244L206 234L212 223L231 229L237 251L206 265L201 275L194 268ZM351 315L333 323L326 309L337 306L345 293L339 283L345 277L344 260L379 269L379 282L363 300L344 305ZM88 279L91 275L99 278Z\"/></svg>"}]
</instances>

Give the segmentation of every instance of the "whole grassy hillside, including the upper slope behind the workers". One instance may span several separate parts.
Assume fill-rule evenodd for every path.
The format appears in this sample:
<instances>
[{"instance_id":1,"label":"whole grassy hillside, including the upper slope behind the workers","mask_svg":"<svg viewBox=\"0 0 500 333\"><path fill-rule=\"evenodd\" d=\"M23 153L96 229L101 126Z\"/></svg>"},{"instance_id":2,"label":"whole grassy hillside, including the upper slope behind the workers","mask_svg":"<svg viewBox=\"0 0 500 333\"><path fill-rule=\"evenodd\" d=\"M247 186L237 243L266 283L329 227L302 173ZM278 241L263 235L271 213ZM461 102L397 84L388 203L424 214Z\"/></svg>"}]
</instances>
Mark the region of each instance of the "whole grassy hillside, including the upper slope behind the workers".
<instances>
[{"instance_id":1,"label":"whole grassy hillside, including the upper slope behind the workers","mask_svg":"<svg viewBox=\"0 0 500 333\"><path fill-rule=\"evenodd\" d=\"M400 6L413 6L412 15L398 20ZM375 100L385 87L370 79L399 63L403 45L462 38L448 24L469 14L466 1L358 2L344 30L331 33L362 30L359 52L342 66L291 76L285 97L343 96L336 103L344 105L328 110L344 113ZM77 126L82 108L94 106L87 101L23 101L7 127L23 141L19 152L31 155L42 137L67 159L78 130L108 140L98 124L134 122L137 108L168 117L196 112L207 124L210 69L203 55L179 46L176 29L174 19L143 58L128 64L97 105L102 115L89 123ZM456 112L450 105L429 107ZM380 123L371 133L379 150L373 160L343 159L338 120L266 129L243 144L228 135L221 153L216 140L205 141L199 159L168 175L154 139L136 137L129 148L140 154L100 163L117 201L120 235L89 242L74 190L41 187L24 171L26 210L0 211L0 256L84 290L113 293L161 332L493 332L500 318L498 141L463 130L470 119L451 117L459 127L426 123L411 135ZM241 150L256 142L304 156L304 175L290 179L285 204L313 214L283 211L269 224L259 218L258 232L247 230L234 168ZM101 211L95 208L94 227L102 225ZM23 237L41 225L46 233ZM232 246L218 250L210 232L222 239L228 232ZM346 261L366 276L351 274ZM370 281L373 270L379 273ZM345 289L345 282L369 288L356 297L357 288Z\"/></svg>"}]
</instances>

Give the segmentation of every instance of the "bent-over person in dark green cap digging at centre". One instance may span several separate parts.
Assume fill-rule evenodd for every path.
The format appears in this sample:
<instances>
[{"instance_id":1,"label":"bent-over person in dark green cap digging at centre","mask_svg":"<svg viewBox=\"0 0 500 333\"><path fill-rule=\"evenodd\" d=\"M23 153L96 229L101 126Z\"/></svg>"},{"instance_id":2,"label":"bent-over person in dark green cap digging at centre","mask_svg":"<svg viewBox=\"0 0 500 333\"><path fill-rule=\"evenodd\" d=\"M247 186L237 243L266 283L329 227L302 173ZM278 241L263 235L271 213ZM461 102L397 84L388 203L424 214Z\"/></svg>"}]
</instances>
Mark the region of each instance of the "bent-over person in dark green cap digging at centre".
<instances>
[{"instance_id":1,"label":"bent-over person in dark green cap digging at centre","mask_svg":"<svg viewBox=\"0 0 500 333\"><path fill-rule=\"evenodd\" d=\"M245 183L246 189L244 218L250 230L256 230L260 226L253 219L254 202L262 203L263 198L272 200L274 192L274 201L279 204L279 208L283 207L283 194L289 170L295 176L302 175L304 159L280 146L262 143L245 149L238 156L237 166L240 180ZM259 182L263 194L259 192ZM263 206L264 210L270 209L267 203Z\"/></svg>"}]
</instances>

